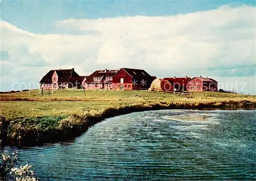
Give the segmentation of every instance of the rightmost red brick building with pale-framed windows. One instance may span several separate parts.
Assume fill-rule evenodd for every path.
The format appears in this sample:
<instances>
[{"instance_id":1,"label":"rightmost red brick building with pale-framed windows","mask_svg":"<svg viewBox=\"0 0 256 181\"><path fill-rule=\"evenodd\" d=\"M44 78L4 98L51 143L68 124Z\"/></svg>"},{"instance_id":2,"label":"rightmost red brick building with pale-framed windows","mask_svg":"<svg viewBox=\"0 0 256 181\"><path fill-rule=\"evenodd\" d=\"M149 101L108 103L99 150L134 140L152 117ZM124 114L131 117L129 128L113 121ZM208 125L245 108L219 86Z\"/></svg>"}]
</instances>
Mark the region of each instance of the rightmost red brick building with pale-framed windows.
<instances>
[{"instance_id":1,"label":"rightmost red brick building with pale-framed windows","mask_svg":"<svg viewBox=\"0 0 256 181\"><path fill-rule=\"evenodd\" d=\"M208 77L194 77L187 83L188 91L218 91L218 82Z\"/></svg>"}]
</instances>

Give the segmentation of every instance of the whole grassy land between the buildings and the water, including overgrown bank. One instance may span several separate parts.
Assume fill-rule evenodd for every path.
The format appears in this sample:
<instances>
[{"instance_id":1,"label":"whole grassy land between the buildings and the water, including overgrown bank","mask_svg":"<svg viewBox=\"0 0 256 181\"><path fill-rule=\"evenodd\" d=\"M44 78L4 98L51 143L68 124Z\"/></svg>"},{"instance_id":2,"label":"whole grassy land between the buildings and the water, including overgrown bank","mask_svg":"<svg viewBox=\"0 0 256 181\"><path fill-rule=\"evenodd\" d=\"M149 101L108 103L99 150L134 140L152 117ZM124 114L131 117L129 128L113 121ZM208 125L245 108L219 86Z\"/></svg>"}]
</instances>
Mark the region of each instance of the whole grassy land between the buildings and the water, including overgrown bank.
<instances>
[{"instance_id":1,"label":"whole grassy land between the buildings and the water, including overgrown bank","mask_svg":"<svg viewBox=\"0 0 256 181\"><path fill-rule=\"evenodd\" d=\"M100 95L99 93L103 94ZM34 145L79 136L105 118L136 111L256 106L255 96L197 92L192 96L146 91L58 90L1 94L11 144Z\"/></svg>"}]
</instances>

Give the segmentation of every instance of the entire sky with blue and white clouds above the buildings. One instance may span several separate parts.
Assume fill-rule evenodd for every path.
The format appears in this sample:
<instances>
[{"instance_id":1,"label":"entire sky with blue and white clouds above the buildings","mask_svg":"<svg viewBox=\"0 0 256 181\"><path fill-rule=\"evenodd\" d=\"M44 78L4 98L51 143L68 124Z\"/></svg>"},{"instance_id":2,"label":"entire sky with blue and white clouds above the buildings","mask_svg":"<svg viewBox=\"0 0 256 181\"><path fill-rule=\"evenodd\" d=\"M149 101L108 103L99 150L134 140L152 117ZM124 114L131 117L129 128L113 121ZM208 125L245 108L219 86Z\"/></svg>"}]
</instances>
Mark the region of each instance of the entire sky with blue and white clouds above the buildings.
<instances>
[{"instance_id":1,"label":"entire sky with blue and white clouds above the buildings","mask_svg":"<svg viewBox=\"0 0 256 181\"><path fill-rule=\"evenodd\" d=\"M209 76L256 94L255 1L6 1L0 91L38 88L50 69L141 68Z\"/></svg>"}]
</instances>

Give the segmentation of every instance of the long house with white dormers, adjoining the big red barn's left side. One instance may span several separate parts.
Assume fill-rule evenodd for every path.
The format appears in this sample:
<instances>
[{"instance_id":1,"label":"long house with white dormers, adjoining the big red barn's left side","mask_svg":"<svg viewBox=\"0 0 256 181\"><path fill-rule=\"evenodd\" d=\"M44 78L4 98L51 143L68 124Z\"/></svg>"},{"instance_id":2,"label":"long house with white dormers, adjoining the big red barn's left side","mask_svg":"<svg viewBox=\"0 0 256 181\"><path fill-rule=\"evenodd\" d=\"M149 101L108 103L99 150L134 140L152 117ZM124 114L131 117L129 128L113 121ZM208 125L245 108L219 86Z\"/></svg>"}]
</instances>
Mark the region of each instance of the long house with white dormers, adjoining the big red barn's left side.
<instances>
[{"instance_id":1,"label":"long house with white dormers, adjoining the big red barn's left side","mask_svg":"<svg viewBox=\"0 0 256 181\"><path fill-rule=\"evenodd\" d=\"M86 89L113 89L113 75L118 70L96 70L86 77L83 86Z\"/></svg>"}]
</instances>

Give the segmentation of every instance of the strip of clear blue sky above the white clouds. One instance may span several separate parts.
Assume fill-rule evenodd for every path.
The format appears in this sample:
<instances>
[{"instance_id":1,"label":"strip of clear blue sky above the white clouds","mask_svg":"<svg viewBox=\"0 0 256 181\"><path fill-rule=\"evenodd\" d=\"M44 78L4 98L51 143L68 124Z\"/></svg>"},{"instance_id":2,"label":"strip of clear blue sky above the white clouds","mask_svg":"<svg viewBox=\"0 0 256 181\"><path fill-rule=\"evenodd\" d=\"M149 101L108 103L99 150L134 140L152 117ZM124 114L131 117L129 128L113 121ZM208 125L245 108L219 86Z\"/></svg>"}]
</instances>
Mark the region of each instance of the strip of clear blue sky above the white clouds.
<instances>
[{"instance_id":1,"label":"strip of clear blue sky above the white clouds","mask_svg":"<svg viewBox=\"0 0 256 181\"><path fill-rule=\"evenodd\" d=\"M33 33L56 33L54 21L119 16L169 16L216 9L222 5L255 5L253 0L205 1L5 1L2 19Z\"/></svg>"}]
</instances>

